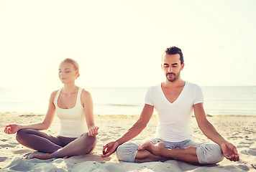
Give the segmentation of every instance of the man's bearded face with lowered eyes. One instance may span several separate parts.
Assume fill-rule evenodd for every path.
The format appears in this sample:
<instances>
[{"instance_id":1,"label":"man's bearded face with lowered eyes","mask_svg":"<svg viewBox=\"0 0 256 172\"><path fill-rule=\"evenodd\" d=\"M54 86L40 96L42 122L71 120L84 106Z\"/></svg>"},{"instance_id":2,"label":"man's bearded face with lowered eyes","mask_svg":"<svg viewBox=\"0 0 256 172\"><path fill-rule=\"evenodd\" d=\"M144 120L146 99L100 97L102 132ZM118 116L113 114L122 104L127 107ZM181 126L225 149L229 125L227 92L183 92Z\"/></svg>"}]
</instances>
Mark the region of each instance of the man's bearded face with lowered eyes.
<instances>
[{"instance_id":1,"label":"man's bearded face with lowered eyes","mask_svg":"<svg viewBox=\"0 0 256 172\"><path fill-rule=\"evenodd\" d=\"M162 69L166 75L166 79L174 82L180 77L180 70L183 70L184 63L180 64L180 54L165 54L162 62Z\"/></svg>"}]
</instances>

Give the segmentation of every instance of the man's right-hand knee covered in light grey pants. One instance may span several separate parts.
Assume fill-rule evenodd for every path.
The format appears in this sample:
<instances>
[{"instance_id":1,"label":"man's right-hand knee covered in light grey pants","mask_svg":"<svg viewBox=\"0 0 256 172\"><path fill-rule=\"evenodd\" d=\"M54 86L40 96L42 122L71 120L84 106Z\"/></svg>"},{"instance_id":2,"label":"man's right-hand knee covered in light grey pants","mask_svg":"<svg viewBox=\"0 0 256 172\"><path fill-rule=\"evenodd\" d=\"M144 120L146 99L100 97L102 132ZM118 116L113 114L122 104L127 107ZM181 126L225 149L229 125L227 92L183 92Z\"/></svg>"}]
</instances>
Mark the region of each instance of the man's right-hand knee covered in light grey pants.
<instances>
[{"instance_id":1,"label":"man's right-hand knee covered in light grey pants","mask_svg":"<svg viewBox=\"0 0 256 172\"><path fill-rule=\"evenodd\" d=\"M221 148L216 144L199 145L196 153L201 164L219 163L224 159Z\"/></svg>"}]
</instances>

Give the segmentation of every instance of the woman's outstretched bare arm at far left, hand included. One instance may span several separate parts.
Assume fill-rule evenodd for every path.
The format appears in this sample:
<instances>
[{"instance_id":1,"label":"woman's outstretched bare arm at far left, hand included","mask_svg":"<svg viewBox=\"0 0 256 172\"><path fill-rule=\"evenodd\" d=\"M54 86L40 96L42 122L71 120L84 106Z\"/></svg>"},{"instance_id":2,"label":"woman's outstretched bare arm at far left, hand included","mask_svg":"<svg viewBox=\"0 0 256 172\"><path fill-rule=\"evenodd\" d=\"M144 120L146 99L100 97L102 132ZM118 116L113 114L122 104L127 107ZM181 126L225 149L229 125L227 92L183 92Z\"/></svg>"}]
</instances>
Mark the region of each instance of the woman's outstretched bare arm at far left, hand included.
<instances>
[{"instance_id":1,"label":"woman's outstretched bare arm at far left, hand included","mask_svg":"<svg viewBox=\"0 0 256 172\"><path fill-rule=\"evenodd\" d=\"M21 129L47 130L50 127L50 124L52 123L52 120L55 115L55 105L53 101L56 93L57 91L52 92L52 94L50 95L49 107L45 115L45 120L43 120L42 123L36 123L32 125L17 125L17 124L6 125L6 127L4 128L4 132L7 134L14 134Z\"/></svg>"}]
</instances>

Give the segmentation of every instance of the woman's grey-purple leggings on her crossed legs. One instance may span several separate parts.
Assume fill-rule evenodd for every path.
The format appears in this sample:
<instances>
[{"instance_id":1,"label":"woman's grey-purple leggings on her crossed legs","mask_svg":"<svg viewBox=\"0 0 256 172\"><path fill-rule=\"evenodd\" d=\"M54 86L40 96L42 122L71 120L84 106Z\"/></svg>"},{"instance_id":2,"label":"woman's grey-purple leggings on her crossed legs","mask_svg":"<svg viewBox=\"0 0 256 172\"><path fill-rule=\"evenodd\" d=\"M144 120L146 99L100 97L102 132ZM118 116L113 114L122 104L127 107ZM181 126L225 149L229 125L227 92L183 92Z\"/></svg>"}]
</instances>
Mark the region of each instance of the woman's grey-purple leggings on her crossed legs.
<instances>
[{"instance_id":1,"label":"woman's grey-purple leggings on her crossed legs","mask_svg":"<svg viewBox=\"0 0 256 172\"><path fill-rule=\"evenodd\" d=\"M96 146L96 136L83 133L79 138L47 135L38 130L22 129L17 132L17 141L36 151L52 153L52 158L78 156L91 153Z\"/></svg>"}]
</instances>

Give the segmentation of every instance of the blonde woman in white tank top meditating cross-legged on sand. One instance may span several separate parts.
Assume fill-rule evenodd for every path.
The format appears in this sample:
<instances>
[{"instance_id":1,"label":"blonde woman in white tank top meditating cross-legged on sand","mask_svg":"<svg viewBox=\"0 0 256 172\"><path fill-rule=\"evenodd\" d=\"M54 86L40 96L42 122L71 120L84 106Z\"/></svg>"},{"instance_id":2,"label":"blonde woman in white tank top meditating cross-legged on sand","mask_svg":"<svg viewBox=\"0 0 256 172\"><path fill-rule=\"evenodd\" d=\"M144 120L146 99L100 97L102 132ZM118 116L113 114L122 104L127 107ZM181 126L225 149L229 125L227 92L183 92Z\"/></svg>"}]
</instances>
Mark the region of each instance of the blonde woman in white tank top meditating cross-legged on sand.
<instances>
[{"instance_id":1,"label":"blonde woman in white tank top meditating cross-legged on sand","mask_svg":"<svg viewBox=\"0 0 256 172\"><path fill-rule=\"evenodd\" d=\"M6 125L4 128L7 134L17 133L18 142L27 148L48 153L35 154L31 158L68 158L91 153L95 148L99 128L94 125L90 93L75 85L79 75L78 63L73 59L64 59L59 67L59 77L64 87L50 95L45 120L32 125ZM55 112L60 118L59 135L40 132L50 127Z\"/></svg>"}]
</instances>

